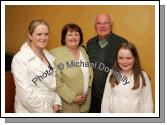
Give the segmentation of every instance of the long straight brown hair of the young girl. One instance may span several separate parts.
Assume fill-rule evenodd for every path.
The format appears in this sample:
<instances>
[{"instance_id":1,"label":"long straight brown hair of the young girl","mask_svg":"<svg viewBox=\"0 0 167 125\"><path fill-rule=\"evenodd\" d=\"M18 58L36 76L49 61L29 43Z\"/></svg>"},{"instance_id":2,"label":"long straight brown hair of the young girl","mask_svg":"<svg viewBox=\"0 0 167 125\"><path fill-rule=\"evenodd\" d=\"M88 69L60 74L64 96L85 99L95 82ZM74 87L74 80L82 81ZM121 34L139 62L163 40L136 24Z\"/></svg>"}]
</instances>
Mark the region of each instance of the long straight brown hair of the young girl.
<instances>
[{"instance_id":1,"label":"long straight brown hair of the young girl","mask_svg":"<svg viewBox=\"0 0 167 125\"><path fill-rule=\"evenodd\" d=\"M116 52L116 61L114 62L114 65L113 65L113 71L118 72L118 73L120 73L120 71L121 71L121 68L119 67L119 64L118 64L118 52L120 49L129 50L132 53L133 57L135 58L135 63L133 66L134 86L132 89L135 90L135 89L138 89L140 87L140 77L142 80L142 86L146 86L144 75L142 73L139 55L138 55L137 49L133 43L124 42L118 48L118 50ZM111 74L109 81L110 81L112 87L114 87L115 84L118 85L120 82L119 79L116 78L113 73Z\"/></svg>"}]
</instances>

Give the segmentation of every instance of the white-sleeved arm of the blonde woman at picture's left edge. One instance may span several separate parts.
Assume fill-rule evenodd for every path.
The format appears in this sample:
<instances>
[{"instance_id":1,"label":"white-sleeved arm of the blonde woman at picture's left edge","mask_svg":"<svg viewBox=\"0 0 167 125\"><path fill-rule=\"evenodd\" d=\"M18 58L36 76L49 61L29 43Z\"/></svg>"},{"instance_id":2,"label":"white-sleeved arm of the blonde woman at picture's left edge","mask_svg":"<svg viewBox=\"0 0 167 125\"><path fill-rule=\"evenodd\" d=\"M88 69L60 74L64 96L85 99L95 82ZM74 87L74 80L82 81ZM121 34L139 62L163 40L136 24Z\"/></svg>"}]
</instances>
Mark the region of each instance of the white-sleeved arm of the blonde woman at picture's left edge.
<instances>
[{"instance_id":1,"label":"white-sleeved arm of the blonde woman at picture's left edge","mask_svg":"<svg viewBox=\"0 0 167 125\"><path fill-rule=\"evenodd\" d=\"M39 99L31 85L31 79L28 77L28 67L22 60L14 58L12 61L12 73L16 85L16 93L22 105L29 112L39 112L43 107L43 101Z\"/></svg>"}]
</instances>

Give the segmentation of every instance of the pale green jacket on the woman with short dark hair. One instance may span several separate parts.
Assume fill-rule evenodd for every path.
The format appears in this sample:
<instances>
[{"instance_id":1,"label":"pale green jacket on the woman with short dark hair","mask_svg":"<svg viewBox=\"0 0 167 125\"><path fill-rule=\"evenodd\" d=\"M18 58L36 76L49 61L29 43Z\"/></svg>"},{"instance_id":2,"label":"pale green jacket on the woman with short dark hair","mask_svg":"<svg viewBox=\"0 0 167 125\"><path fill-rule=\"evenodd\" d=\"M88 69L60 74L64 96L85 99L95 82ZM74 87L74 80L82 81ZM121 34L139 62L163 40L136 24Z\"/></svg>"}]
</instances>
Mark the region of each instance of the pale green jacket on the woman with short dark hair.
<instances>
[{"instance_id":1,"label":"pale green jacket on the woman with short dark hair","mask_svg":"<svg viewBox=\"0 0 167 125\"><path fill-rule=\"evenodd\" d=\"M83 58L86 62L89 62L89 57L86 51L80 47L79 48ZM62 98L62 111L64 113L81 113L89 112L89 107L91 103L91 87L93 80L93 70L92 67L88 67L89 70L89 80L88 80L88 90L87 90L87 100L83 105L77 105L73 103L76 95L84 93L84 74L81 70L81 66L68 67L68 63L71 61L77 62L74 56L69 52L66 46L52 49L51 54L56 58L56 91Z\"/></svg>"}]
</instances>

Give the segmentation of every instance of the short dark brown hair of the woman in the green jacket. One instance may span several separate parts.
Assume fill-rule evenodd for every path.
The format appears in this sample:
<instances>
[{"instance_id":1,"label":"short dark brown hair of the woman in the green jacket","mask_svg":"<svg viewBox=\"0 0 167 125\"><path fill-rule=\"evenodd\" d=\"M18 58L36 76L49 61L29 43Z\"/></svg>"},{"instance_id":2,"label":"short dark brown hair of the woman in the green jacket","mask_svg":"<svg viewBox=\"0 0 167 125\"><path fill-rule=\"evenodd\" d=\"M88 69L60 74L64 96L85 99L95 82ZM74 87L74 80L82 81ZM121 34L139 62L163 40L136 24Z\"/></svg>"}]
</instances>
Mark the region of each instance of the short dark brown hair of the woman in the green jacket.
<instances>
[{"instance_id":1,"label":"short dark brown hair of the woman in the green jacket","mask_svg":"<svg viewBox=\"0 0 167 125\"><path fill-rule=\"evenodd\" d=\"M80 35L79 46L80 46L83 42L83 33L82 33L81 28L77 24L73 24L73 23L66 24L63 27L62 32L61 32L61 44L66 45L65 38L66 38L66 34L68 31L76 31L79 33L79 35Z\"/></svg>"}]
</instances>

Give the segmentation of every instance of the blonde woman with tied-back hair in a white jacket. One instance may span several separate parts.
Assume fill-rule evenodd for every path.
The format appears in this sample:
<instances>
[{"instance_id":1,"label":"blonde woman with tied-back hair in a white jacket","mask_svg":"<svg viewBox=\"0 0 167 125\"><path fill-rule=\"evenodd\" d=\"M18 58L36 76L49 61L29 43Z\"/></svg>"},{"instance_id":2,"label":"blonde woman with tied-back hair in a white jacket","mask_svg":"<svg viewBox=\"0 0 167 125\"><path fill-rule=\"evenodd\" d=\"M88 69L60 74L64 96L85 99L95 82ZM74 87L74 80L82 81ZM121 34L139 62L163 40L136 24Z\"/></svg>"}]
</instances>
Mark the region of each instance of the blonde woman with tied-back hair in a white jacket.
<instances>
[{"instance_id":1,"label":"blonde woman with tied-back hair in a white jacket","mask_svg":"<svg viewBox=\"0 0 167 125\"><path fill-rule=\"evenodd\" d=\"M47 22L33 20L28 27L29 40L13 58L16 113L51 113L61 109L61 99L55 92L55 58L44 49L49 34Z\"/></svg>"}]
</instances>

